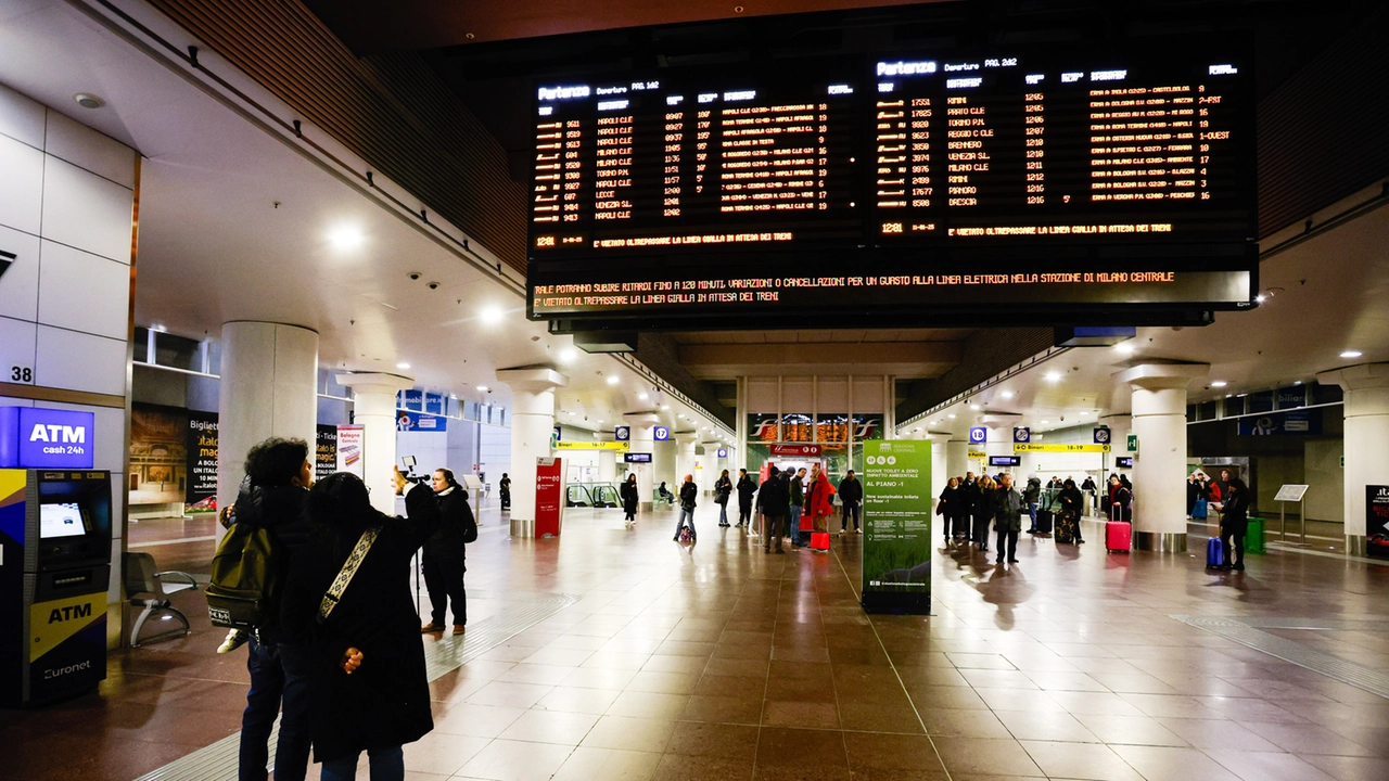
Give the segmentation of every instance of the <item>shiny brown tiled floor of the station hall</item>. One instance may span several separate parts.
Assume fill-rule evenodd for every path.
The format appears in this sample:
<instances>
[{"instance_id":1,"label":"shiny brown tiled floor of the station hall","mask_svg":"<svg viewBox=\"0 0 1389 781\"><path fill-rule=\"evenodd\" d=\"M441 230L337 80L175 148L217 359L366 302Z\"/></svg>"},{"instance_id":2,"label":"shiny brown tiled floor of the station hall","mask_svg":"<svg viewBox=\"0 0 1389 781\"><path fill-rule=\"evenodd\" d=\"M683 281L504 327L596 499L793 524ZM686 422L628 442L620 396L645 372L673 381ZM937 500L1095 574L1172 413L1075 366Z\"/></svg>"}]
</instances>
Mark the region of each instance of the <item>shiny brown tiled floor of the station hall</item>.
<instances>
[{"instance_id":1,"label":"shiny brown tiled floor of the station hall","mask_svg":"<svg viewBox=\"0 0 1389 781\"><path fill-rule=\"evenodd\" d=\"M671 514L629 532L571 511L563 541L489 517L472 620L517 592L581 599L435 681L410 777L1389 778L1389 700L1170 617L1357 621L1268 631L1386 671L1389 567L1270 553L1217 575L1195 543L1108 556L1088 525L1083 546L1024 539L1010 568L940 549L931 618L870 618L861 538L767 556L699 518L688 549ZM164 550L196 566L193 545ZM133 778L235 732L244 656L197 628L115 655L100 695L0 713L0 778Z\"/></svg>"}]
</instances>

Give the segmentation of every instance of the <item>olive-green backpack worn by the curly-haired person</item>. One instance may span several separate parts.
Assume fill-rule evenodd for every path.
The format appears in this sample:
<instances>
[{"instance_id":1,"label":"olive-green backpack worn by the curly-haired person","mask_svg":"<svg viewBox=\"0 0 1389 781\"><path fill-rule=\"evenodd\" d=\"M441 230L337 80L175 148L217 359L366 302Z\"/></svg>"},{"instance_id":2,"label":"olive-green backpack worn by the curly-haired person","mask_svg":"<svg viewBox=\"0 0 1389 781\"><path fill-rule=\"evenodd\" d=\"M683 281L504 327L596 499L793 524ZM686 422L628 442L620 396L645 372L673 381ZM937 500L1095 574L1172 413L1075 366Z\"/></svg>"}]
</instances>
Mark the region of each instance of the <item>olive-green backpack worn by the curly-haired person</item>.
<instances>
[{"instance_id":1,"label":"olive-green backpack worn by the curly-haired person","mask_svg":"<svg viewBox=\"0 0 1389 781\"><path fill-rule=\"evenodd\" d=\"M232 524L213 554L207 617L214 627L256 630L275 616L283 556L265 527Z\"/></svg>"}]
</instances>

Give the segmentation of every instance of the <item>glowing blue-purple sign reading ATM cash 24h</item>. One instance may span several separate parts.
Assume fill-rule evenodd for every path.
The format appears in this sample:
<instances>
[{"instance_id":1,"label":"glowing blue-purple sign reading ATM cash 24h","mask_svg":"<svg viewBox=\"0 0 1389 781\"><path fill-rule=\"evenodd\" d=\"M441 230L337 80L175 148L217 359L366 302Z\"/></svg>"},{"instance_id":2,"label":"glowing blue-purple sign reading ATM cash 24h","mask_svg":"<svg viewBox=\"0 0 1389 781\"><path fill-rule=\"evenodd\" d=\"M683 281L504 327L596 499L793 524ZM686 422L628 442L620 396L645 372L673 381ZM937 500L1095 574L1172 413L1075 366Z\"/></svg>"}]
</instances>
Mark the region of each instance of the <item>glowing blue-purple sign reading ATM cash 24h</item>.
<instances>
[{"instance_id":1,"label":"glowing blue-purple sign reading ATM cash 24h","mask_svg":"<svg viewBox=\"0 0 1389 781\"><path fill-rule=\"evenodd\" d=\"M0 468L90 470L96 416L44 407L0 407Z\"/></svg>"}]
</instances>

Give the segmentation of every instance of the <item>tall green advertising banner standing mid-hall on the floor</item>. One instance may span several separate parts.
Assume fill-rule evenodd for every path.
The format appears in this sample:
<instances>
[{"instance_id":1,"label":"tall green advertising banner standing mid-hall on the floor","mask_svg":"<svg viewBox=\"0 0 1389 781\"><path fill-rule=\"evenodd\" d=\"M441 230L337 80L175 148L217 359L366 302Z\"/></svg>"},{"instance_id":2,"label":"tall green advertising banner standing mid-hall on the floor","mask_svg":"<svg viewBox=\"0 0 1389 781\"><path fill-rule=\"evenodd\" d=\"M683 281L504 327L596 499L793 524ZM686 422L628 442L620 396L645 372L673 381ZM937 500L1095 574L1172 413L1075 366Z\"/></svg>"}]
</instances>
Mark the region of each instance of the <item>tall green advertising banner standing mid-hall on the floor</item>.
<instances>
[{"instance_id":1,"label":"tall green advertising banner standing mid-hall on the floor","mask_svg":"<svg viewBox=\"0 0 1389 781\"><path fill-rule=\"evenodd\" d=\"M863 606L931 613L931 442L864 443Z\"/></svg>"}]
</instances>

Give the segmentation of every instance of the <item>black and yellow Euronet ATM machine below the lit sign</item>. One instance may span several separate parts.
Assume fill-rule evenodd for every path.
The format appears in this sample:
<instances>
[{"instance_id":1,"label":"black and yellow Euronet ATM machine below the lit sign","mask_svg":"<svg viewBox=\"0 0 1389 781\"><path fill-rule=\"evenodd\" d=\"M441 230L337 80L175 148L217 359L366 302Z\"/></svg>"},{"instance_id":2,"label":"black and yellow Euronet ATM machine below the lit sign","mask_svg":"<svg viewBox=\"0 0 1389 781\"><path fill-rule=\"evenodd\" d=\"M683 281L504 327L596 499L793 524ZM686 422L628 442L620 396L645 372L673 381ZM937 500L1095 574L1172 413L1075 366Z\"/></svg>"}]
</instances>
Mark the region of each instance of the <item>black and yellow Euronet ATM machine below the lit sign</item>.
<instances>
[{"instance_id":1,"label":"black and yellow Euronet ATM machine below the lit sign","mask_svg":"<svg viewBox=\"0 0 1389 781\"><path fill-rule=\"evenodd\" d=\"M0 468L0 706L106 678L111 472Z\"/></svg>"}]
</instances>

